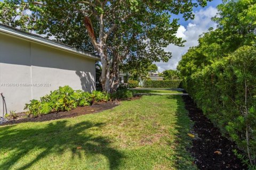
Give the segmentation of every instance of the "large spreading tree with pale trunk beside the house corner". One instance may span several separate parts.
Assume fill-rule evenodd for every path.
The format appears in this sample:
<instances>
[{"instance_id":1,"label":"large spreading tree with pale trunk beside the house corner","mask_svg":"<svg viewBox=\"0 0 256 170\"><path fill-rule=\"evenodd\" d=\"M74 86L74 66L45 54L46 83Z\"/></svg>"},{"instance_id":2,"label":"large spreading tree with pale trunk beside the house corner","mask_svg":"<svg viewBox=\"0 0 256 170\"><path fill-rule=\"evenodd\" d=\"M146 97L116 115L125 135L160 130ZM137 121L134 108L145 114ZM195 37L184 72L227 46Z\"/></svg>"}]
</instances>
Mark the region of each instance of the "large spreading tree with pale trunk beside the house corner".
<instances>
[{"instance_id":1,"label":"large spreading tree with pale trunk beside the house corner","mask_svg":"<svg viewBox=\"0 0 256 170\"><path fill-rule=\"evenodd\" d=\"M148 44L147 51L155 54L152 60L161 58L158 51L164 54L163 48L154 47L182 45L181 38L175 36L179 25L177 20L171 20L171 14L193 18L192 9L198 4L205 6L206 0L5 0L0 4L0 21L98 53L103 91L111 92L115 87L111 87L111 81L116 79L113 74L111 80L111 69L117 72L119 60L137 55L136 43L140 47ZM129 42L132 46L125 48Z\"/></svg>"}]
</instances>

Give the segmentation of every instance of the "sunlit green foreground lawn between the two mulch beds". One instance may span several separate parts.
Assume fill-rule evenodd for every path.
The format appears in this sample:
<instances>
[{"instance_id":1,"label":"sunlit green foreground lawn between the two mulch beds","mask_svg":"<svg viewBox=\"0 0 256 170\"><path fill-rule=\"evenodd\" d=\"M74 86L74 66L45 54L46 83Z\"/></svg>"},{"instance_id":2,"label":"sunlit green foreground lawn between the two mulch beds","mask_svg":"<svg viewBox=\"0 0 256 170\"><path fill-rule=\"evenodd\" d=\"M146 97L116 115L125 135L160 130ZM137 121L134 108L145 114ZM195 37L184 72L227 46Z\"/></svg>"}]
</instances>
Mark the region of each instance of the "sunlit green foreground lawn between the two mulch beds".
<instances>
[{"instance_id":1,"label":"sunlit green foreground lawn between the two mulch beds","mask_svg":"<svg viewBox=\"0 0 256 170\"><path fill-rule=\"evenodd\" d=\"M0 127L0 169L196 169L181 96L143 96L108 111Z\"/></svg>"}]
</instances>

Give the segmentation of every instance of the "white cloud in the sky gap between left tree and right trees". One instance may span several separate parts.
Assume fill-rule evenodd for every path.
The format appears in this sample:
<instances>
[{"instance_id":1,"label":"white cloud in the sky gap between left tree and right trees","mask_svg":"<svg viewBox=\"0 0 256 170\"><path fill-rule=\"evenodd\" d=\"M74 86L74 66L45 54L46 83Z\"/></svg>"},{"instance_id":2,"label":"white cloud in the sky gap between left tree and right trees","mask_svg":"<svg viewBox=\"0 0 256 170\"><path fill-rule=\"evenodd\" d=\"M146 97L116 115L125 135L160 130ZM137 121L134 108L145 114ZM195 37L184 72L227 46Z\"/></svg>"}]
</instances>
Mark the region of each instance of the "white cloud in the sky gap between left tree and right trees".
<instances>
[{"instance_id":1,"label":"white cloud in the sky gap between left tree and right trees","mask_svg":"<svg viewBox=\"0 0 256 170\"><path fill-rule=\"evenodd\" d=\"M216 28L216 24L211 21L211 18L217 14L217 8L209 6L207 8L201 9L195 12L195 19L188 23L187 28L180 25L177 31L177 37L185 39L187 42L184 44L185 47L178 47L170 44L165 48L166 51L172 52L172 58L169 62L158 62L158 71L162 72L164 70L175 70L181 56L187 52L189 47L198 45L198 37L203 32L206 32L210 27Z\"/></svg>"}]
</instances>

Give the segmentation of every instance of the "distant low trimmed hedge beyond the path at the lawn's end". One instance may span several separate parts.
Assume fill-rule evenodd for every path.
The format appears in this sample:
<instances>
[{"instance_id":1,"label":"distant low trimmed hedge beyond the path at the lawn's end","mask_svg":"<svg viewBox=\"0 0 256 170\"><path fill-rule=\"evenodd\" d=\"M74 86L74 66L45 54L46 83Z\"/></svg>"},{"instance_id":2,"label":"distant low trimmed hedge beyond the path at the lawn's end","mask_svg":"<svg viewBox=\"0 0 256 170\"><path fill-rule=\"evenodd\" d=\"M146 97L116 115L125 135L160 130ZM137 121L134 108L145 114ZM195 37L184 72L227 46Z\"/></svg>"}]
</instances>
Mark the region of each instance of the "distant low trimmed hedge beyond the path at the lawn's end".
<instances>
[{"instance_id":1,"label":"distant low trimmed hedge beyond the path at the lawn's end","mask_svg":"<svg viewBox=\"0 0 256 170\"><path fill-rule=\"evenodd\" d=\"M146 88L178 88L181 80L145 80L143 87Z\"/></svg>"}]
</instances>

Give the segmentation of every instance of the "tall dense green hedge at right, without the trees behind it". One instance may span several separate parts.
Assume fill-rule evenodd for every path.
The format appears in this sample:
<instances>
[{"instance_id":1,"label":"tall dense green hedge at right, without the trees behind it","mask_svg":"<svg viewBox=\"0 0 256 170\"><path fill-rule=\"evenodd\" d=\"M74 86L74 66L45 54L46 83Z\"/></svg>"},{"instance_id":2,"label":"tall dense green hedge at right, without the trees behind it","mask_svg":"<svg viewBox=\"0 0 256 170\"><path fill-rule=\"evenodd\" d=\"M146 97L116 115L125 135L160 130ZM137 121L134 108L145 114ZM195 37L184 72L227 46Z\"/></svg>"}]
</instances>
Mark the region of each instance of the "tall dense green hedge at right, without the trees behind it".
<instances>
[{"instance_id":1,"label":"tall dense green hedge at right, without the trees behind it","mask_svg":"<svg viewBox=\"0 0 256 170\"><path fill-rule=\"evenodd\" d=\"M247 156L250 155L252 163L249 159L244 159L244 162L251 169L256 168L255 75L256 48L245 46L183 81L197 106L221 129L222 134L235 141Z\"/></svg>"}]
</instances>

